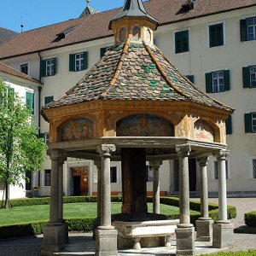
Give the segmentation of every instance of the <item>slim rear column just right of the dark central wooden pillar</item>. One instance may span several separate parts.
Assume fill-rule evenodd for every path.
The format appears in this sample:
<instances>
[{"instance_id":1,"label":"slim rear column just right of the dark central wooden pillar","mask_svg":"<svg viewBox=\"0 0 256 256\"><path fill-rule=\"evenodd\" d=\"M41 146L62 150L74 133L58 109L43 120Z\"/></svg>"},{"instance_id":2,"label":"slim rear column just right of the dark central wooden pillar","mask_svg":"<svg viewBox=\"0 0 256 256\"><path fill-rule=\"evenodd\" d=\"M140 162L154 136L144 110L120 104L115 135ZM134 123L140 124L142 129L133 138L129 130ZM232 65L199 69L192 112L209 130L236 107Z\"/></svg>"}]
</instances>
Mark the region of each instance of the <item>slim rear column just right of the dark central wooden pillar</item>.
<instances>
[{"instance_id":1,"label":"slim rear column just right of the dark central wooden pillar","mask_svg":"<svg viewBox=\"0 0 256 256\"><path fill-rule=\"evenodd\" d=\"M159 168L163 161L151 161L150 166L153 167L154 181L153 181L153 213L160 214L160 177Z\"/></svg>"}]
</instances>

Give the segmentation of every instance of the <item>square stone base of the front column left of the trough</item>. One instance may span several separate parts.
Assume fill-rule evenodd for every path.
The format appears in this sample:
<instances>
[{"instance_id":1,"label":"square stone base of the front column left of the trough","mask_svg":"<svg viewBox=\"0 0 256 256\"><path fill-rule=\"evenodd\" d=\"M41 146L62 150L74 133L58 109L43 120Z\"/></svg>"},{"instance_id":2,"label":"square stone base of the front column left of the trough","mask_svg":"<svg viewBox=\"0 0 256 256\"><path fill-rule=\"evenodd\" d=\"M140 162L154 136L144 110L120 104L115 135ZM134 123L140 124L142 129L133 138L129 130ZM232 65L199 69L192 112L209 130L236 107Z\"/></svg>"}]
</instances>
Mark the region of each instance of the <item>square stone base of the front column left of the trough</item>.
<instances>
[{"instance_id":1,"label":"square stone base of the front column left of the trough","mask_svg":"<svg viewBox=\"0 0 256 256\"><path fill-rule=\"evenodd\" d=\"M96 230L96 256L117 256L117 235L118 231Z\"/></svg>"}]
</instances>

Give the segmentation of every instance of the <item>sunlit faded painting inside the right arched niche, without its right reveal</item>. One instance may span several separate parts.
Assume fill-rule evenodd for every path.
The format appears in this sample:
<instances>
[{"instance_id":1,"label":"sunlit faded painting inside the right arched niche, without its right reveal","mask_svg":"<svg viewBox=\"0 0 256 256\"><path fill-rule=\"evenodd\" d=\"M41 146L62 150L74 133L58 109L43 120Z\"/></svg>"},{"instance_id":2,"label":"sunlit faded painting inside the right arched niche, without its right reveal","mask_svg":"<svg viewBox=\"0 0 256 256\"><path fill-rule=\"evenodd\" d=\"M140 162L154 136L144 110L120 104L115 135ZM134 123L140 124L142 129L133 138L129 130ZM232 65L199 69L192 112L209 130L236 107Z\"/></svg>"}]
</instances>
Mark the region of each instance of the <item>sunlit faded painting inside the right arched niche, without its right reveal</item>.
<instances>
[{"instance_id":1,"label":"sunlit faded painting inside the right arched niche, without its right reveal","mask_svg":"<svg viewBox=\"0 0 256 256\"><path fill-rule=\"evenodd\" d=\"M209 143L214 142L214 129L204 120L195 122L195 138Z\"/></svg>"}]
</instances>

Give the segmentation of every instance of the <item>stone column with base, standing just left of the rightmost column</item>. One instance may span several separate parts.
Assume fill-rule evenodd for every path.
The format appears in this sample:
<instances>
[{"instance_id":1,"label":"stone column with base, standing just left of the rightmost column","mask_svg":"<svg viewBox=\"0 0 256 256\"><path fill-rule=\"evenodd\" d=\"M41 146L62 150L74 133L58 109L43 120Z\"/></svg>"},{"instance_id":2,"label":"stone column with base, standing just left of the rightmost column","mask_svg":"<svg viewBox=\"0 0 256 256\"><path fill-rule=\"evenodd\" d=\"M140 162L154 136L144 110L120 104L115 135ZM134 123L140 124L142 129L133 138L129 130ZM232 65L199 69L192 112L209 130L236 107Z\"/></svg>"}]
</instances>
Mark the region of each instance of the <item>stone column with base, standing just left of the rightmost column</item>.
<instances>
[{"instance_id":1,"label":"stone column with base, standing just left of the rightmost column","mask_svg":"<svg viewBox=\"0 0 256 256\"><path fill-rule=\"evenodd\" d=\"M212 218L209 218L208 211L208 180L207 180L207 162L208 157L198 158L200 166L200 197L201 197L201 218L196 220L196 240L212 241Z\"/></svg>"}]
</instances>

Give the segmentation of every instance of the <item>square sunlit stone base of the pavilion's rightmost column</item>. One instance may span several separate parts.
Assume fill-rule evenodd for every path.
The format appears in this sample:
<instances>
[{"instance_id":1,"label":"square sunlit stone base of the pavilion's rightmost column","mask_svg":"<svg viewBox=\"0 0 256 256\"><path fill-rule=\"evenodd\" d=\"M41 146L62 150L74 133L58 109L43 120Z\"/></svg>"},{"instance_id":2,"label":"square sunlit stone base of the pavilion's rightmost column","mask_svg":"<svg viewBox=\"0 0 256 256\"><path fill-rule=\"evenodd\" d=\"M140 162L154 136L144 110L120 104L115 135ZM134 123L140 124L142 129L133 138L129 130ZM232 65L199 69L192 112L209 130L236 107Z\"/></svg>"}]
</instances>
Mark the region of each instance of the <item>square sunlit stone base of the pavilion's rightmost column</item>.
<instances>
[{"instance_id":1,"label":"square sunlit stone base of the pavilion's rightmost column","mask_svg":"<svg viewBox=\"0 0 256 256\"><path fill-rule=\"evenodd\" d=\"M212 247L224 248L234 245L234 225L229 221L212 224Z\"/></svg>"}]
</instances>

